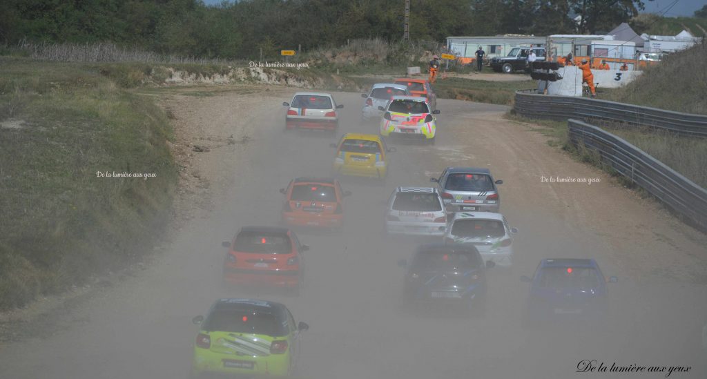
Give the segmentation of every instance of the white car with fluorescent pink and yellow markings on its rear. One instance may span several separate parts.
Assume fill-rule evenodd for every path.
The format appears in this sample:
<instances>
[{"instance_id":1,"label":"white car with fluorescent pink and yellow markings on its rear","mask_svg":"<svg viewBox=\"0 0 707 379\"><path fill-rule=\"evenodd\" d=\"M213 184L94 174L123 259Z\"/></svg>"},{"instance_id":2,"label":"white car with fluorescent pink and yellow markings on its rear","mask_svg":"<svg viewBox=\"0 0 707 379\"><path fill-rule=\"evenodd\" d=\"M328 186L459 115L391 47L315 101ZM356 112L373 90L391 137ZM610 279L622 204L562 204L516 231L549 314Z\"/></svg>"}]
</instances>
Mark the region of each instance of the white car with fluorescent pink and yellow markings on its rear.
<instances>
[{"instance_id":1,"label":"white car with fluorescent pink and yellow markings on its rear","mask_svg":"<svg viewBox=\"0 0 707 379\"><path fill-rule=\"evenodd\" d=\"M434 144L436 117L439 110L432 111L426 98L419 96L392 96L382 110L380 119L381 136L407 136L423 139Z\"/></svg>"}]
</instances>

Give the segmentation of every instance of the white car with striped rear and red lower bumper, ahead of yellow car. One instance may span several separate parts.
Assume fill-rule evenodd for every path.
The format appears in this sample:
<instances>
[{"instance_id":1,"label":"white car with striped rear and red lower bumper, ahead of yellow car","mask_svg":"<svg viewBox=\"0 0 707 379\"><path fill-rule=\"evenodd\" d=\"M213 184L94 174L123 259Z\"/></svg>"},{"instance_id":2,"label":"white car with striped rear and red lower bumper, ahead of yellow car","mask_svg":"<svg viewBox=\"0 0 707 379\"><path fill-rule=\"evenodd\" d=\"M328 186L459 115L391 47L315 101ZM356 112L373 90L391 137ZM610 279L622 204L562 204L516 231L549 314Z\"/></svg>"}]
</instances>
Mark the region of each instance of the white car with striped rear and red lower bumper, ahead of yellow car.
<instances>
[{"instance_id":1,"label":"white car with striped rear and red lower bumper, ahead of yellow car","mask_svg":"<svg viewBox=\"0 0 707 379\"><path fill-rule=\"evenodd\" d=\"M298 92L290 103L285 116L285 129L317 129L336 132L339 128L339 112L344 107L337 105L329 93Z\"/></svg>"}]
</instances>

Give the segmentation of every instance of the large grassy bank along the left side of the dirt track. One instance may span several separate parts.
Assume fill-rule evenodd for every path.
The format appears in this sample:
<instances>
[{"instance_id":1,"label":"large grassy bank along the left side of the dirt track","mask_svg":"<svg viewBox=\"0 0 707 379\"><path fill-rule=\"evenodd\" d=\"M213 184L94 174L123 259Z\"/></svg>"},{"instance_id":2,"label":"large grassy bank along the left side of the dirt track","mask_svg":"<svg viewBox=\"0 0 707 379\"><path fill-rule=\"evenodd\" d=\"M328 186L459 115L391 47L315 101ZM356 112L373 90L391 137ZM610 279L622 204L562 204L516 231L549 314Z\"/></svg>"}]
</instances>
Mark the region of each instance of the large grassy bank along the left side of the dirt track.
<instances>
[{"instance_id":1,"label":"large grassy bank along the left side of the dirt track","mask_svg":"<svg viewBox=\"0 0 707 379\"><path fill-rule=\"evenodd\" d=\"M0 309L139 260L168 221L168 117L113 69L0 57Z\"/></svg>"}]
</instances>

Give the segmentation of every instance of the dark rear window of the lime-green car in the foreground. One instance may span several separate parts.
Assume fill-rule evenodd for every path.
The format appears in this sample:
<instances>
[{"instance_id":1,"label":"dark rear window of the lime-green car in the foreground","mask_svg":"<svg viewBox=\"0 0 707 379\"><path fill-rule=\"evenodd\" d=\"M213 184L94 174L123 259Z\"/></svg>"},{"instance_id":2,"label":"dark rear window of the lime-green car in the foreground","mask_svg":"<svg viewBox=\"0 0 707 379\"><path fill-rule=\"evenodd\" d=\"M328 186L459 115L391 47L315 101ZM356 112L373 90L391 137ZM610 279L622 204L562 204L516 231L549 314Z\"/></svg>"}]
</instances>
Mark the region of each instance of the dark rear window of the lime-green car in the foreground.
<instances>
[{"instance_id":1,"label":"dark rear window of the lime-green car in the foreground","mask_svg":"<svg viewBox=\"0 0 707 379\"><path fill-rule=\"evenodd\" d=\"M218 304L204 321L204 330L283 336L284 327L272 313L240 304Z\"/></svg>"}]
</instances>

